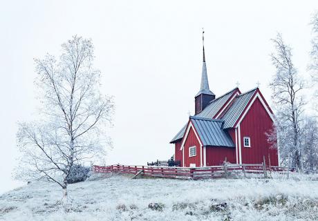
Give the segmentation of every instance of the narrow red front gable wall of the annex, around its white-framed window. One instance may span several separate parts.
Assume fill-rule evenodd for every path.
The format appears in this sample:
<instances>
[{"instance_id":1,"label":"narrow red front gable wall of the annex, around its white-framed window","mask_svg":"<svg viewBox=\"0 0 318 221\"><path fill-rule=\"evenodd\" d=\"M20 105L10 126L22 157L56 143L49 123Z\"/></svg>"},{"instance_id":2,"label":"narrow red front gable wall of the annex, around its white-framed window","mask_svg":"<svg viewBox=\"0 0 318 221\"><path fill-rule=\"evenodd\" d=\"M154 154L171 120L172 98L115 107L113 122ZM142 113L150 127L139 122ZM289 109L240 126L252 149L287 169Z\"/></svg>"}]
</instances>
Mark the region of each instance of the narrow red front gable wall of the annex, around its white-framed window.
<instances>
[{"instance_id":1,"label":"narrow red front gable wall of the annex, around its white-framed window","mask_svg":"<svg viewBox=\"0 0 318 221\"><path fill-rule=\"evenodd\" d=\"M200 142L196 138L196 134L194 133L194 128L190 128L189 134L186 137L184 154L185 154L185 166L190 166L190 164L196 164L196 166L200 165ZM196 146L196 156L189 157L189 147Z\"/></svg>"}]
</instances>

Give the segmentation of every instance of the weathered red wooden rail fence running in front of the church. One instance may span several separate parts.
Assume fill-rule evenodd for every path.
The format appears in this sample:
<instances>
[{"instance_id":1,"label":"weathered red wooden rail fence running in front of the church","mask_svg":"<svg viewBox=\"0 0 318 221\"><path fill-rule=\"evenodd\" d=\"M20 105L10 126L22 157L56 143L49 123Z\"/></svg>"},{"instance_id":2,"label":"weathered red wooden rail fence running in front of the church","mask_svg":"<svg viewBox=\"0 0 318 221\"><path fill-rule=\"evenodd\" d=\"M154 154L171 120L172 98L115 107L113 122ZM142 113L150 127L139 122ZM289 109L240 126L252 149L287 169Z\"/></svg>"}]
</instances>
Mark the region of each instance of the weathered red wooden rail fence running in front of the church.
<instances>
[{"instance_id":1,"label":"weathered red wooden rail fence running in front of the church","mask_svg":"<svg viewBox=\"0 0 318 221\"><path fill-rule=\"evenodd\" d=\"M281 166L266 166L263 164L224 164L222 166L207 167L171 167L171 166L127 166L127 165L110 165L92 167L96 173L130 173L133 175L144 175L150 177L168 177L180 179L209 179L217 177L228 177L230 175L243 175L247 177L251 174L258 177L268 177L268 173L278 171L285 173L288 168ZM289 171L297 171L297 169L289 169ZM304 171L308 173L308 171ZM317 173L317 171L309 171Z\"/></svg>"}]
</instances>

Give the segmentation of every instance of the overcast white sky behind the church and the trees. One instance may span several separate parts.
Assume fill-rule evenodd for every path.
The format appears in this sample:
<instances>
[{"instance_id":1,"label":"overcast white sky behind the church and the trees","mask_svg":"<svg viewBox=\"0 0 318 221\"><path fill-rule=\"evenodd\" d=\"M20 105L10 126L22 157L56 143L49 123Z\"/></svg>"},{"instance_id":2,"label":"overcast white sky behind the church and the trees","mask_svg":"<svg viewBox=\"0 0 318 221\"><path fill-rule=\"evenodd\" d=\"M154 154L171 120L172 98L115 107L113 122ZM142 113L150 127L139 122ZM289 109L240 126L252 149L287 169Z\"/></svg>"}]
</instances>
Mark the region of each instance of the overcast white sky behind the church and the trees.
<instances>
[{"instance_id":1,"label":"overcast white sky behind the church and the trees","mask_svg":"<svg viewBox=\"0 0 318 221\"><path fill-rule=\"evenodd\" d=\"M2 1L0 7L0 193L18 155L17 121L35 117L35 57L59 55L72 35L93 40L102 91L115 97L107 164L167 160L169 144L200 86L201 28L210 89L222 95L261 82L270 102L271 38L281 32L303 75L318 1Z\"/></svg>"}]
</instances>

